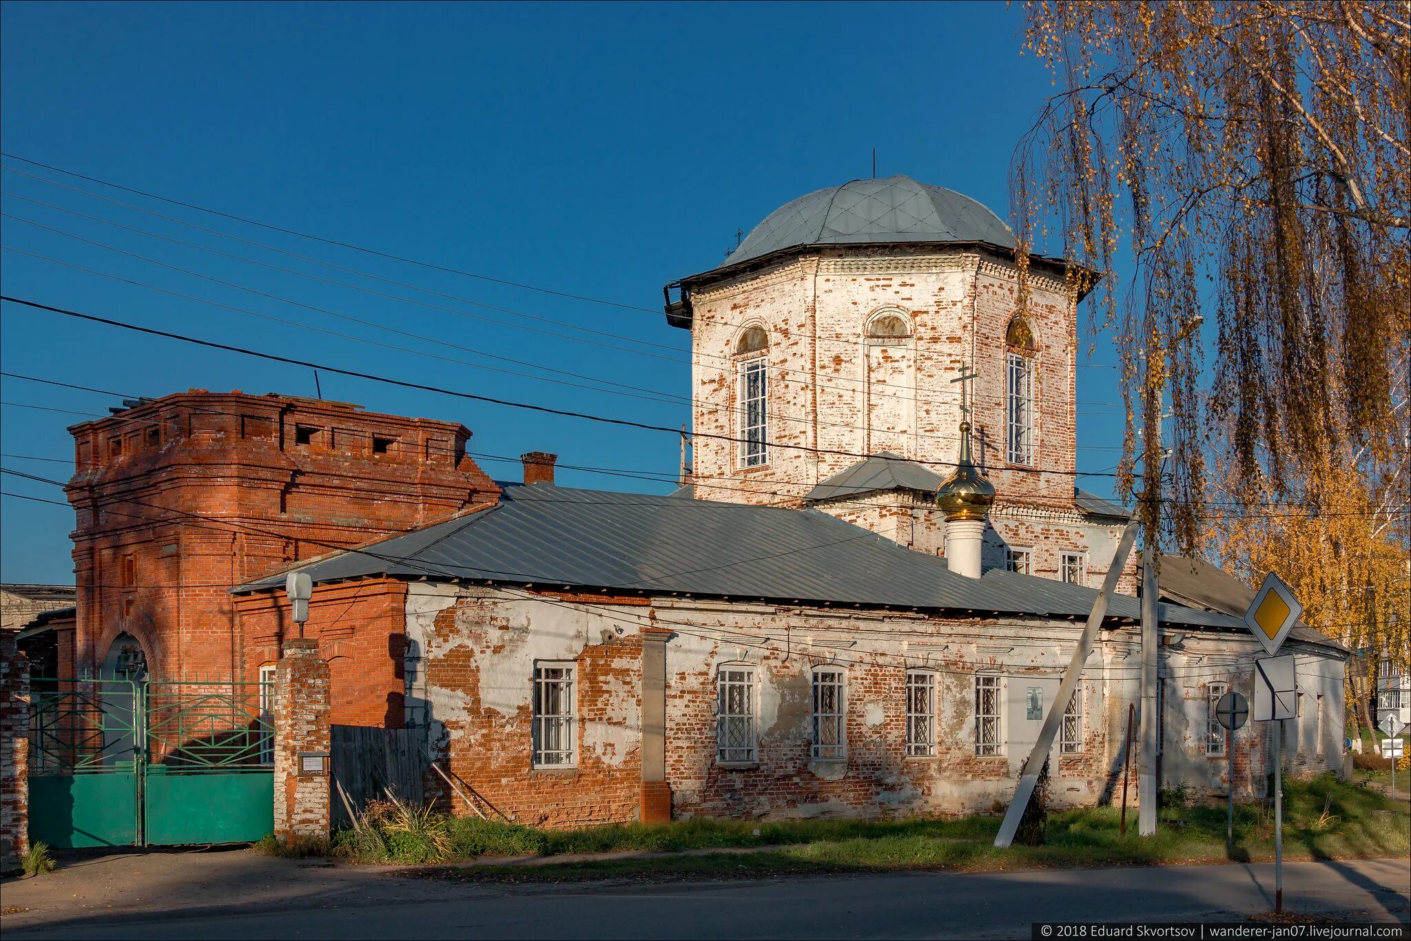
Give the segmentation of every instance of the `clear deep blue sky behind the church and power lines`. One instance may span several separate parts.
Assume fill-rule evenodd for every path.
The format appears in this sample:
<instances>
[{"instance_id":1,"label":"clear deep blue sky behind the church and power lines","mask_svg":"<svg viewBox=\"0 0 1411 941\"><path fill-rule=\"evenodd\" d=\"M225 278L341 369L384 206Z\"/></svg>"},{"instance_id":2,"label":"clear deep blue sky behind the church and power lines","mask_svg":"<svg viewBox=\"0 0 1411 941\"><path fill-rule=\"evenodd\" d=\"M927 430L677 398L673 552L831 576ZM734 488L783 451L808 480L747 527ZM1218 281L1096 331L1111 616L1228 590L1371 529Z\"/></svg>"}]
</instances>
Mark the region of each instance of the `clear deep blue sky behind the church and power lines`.
<instances>
[{"instance_id":1,"label":"clear deep blue sky behind the church and power lines","mask_svg":"<svg viewBox=\"0 0 1411 941\"><path fill-rule=\"evenodd\" d=\"M261 320L224 308L6 251L4 292L61 308L236 341L301 358L499 398L653 425L689 420L689 337L666 326L662 285L717 264L776 206L871 174L909 174L1007 213L1006 171L1048 78L1020 56L1020 14L989 4L44 4L0 7L4 150L131 188L408 258L653 313L584 303L429 271L281 236L82 181L63 182L349 268L621 334L535 326L593 346L464 313L286 275L24 202L120 221L223 251L408 295L251 245L59 189L11 169L4 212L296 300L429 334L461 350L394 336L278 299L202 281L4 219L3 243L71 265L382 344L536 372L608 377L652 401L474 368ZM55 179L56 174L6 161ZM1051 247L1057 248L1057 247ZM308 370L193 350L99 324L0 310L0 365L123 394L190 387L313 394ZM632 343L641 340L643 346ZM1086 346L1086 344L1085 344ZM648 356L650 354L650 356ZM1112 363L1096 337L1092 363ZM471 449L552 450L566 464L674 473L673 437L526 413L323 375L323 395L370 409L464 422ZM111 396L4 378L4 464L65 480L66 426L106 413ZM1079 370L1079 470L1110 467L1120 444L1113 371ZM34 408L79 412L48 412ZM483 461L491 475L518 468ZM562 471L560 481L666 490ZM1084 484L1108 494L1108 481ZM41 482L4 490L62 499ZM72 581L62 506L6 498L0 578Z\"/></svg>"}]
</instances>

